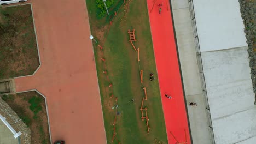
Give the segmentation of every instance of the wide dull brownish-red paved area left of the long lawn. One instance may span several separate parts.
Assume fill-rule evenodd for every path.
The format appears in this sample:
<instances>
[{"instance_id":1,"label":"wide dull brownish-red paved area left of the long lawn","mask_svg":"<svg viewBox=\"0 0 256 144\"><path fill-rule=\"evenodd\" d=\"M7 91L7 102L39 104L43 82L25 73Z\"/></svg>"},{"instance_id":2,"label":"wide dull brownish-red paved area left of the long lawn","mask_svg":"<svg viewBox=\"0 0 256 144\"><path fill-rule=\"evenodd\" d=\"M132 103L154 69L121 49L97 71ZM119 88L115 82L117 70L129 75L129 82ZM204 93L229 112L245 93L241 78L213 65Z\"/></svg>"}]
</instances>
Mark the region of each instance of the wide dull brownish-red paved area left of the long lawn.
<instances>
[{"instance_id":1,"label":"wide dull brownish-red paved area left of the long lawn","mask_svg":"<svg viewBox=\"0 0 256 144\"><path fill-rule=\"evenodd\" d=\"M85 0L32 1L42 66L16 91L46 96L52 140L106 143Z\"/></svg>"}]
</instances>

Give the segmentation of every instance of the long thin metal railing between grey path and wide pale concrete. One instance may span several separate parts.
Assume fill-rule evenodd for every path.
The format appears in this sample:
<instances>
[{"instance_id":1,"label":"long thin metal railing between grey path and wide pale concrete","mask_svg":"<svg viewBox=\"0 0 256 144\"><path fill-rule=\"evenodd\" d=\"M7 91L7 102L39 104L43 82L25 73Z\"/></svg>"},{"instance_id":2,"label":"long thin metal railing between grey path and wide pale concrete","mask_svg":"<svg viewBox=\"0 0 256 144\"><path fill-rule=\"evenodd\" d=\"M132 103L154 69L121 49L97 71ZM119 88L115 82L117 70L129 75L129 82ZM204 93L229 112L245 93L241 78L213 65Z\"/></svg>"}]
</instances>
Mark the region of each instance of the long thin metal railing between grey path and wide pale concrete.
<instances>
[{"instance_id":1,"label":"long thin metal railing between grey path and wide pale concrete","mask_svg":"<svg viewBox=\"0 0 256 144\"><path fill-rule=\"evenodd\" d=\"M199 72L200 72L201 85L202 85L202 89L203 89L202 94L203 94L203 97L205 98L207 122L208 122L208 126L209 126L208 128L210 131L210 139L211 139L210 141L211 141L211 143L215 144L214 133L213 133L213 128L212 128L212 118L211 118L211 112L210 112L210 107L209 107L209 102L208 102L208 97L207 97L207 89L206 89L206 84L205 84L205 74L203 73L201 51L200 51L199 39L198 39L198 35L197 35L194 4L193 4L193 0L188 0L188 1L189 1L189 11L190 11L191 23L192 23L192 27L193 27L194 41L195 41L196 58L197 58L197 63L198 63L198 67L199 67Z\"/></svg>"}]
</instances>

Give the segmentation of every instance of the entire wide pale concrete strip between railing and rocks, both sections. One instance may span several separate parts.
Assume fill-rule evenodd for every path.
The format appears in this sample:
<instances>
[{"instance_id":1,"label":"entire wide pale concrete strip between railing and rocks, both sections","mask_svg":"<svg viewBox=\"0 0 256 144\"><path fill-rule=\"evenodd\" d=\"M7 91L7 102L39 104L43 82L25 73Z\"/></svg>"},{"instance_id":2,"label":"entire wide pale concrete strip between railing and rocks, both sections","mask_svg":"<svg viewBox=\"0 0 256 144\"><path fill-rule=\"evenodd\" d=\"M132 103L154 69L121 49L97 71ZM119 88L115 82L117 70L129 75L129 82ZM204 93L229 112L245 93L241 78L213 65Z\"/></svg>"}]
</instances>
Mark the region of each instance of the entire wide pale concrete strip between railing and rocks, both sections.
<instances>
[{"instance_id":1,"label":"entire wide pale concrete strip between railing and rocks, both sections","mask_svg":"<svg viewBox=\"0 0 256 144\"><path fill-rule=\"evenodd\" d=\"M256 106L238 0L193 0L217 144L254 144Z\"/></svg>"}]
</instances>

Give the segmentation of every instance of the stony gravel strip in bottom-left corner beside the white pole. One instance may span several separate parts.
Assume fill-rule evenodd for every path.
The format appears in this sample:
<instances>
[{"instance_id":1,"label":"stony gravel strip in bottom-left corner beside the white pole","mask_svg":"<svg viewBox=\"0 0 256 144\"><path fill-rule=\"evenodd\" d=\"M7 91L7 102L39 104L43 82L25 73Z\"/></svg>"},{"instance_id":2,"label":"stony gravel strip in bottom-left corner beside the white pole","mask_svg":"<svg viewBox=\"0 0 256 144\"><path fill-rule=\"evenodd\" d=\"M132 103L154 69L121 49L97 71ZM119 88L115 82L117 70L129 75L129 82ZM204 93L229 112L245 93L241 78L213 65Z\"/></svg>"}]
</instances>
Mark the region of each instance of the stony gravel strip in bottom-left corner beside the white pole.
<instances>
[{"instance_id":1,"label":"stony gravel strip in bottom-left corner beside the white pole","mask_svg":"<svg viewBox=\"0 0 256 144\"><path fill-rule=\"evenodd\" d=\"M31 144L30 128L20 121L19 116L11 109L11 107L5 103L5 101L0 97L0 114L5 117L9 124L16 130L21 131L20 143L21 144ZM16 123L15 123L16 122Z\"/></svg>"}]
</instances>

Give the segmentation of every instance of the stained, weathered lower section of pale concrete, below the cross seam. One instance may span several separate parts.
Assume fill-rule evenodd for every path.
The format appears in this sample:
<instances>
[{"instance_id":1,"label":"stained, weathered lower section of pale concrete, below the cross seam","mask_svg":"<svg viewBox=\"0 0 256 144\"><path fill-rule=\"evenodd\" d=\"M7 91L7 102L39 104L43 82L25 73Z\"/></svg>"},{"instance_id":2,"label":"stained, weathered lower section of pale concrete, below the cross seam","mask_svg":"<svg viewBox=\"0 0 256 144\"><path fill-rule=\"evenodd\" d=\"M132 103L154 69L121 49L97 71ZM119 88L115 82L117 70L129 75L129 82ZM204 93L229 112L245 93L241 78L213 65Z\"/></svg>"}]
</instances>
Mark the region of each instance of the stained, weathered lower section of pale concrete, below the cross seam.
<instances>
[{"instance_id":1,"label":"stained, weathered lower section of pale concrete, below the cross seam","mask_svg":"<svg viewBox=\"0 0 256 144\"><path fill-rule=\"evenodd\" d=\"M237 47L201 53L216 143L237 143L256 135L256 107L246 50Z\"/></svg>"}]
</instances>

